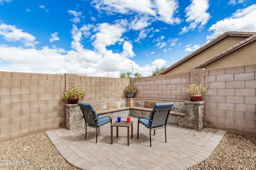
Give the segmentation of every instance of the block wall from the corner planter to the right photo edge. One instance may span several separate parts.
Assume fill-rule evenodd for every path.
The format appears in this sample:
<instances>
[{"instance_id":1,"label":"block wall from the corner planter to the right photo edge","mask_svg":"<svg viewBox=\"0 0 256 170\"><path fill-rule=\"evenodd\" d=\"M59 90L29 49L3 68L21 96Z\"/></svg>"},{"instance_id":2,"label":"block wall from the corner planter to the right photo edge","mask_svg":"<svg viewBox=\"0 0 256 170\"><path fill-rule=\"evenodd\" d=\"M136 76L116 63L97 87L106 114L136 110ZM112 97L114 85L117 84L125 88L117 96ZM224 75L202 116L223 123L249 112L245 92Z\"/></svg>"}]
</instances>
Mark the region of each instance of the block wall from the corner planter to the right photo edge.
<instances>
[{"instance_id":1,"label":"block wall from the corner planter to the right photo edge","mask_svg":"<svg viewBox=\"0 0 256 170\"><path fill-rule=\"evenodd\" d=\"M256 136L256 64L136 78L135 98L189 100L183 88L195 82L210 86L203 93L204 126Z\"/></svg>"}]
</instances>

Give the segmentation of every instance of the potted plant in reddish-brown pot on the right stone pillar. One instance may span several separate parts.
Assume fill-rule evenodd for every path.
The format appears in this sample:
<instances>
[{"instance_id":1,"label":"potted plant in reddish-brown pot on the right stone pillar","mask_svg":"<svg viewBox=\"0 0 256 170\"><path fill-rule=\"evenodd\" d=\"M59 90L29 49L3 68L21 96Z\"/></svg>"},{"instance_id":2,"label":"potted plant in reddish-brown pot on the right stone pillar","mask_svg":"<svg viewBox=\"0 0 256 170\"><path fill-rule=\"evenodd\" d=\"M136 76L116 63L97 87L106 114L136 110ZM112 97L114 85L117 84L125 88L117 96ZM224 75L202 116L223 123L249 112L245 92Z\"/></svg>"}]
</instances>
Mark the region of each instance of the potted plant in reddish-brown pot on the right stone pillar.
<instances>
[{"instance_id":1,"label":"potted plant in reddish-brown pot on the right stone pillar","mask_svg":"<svg viewBox=\"0 0 256 170\"><path fill-rule=\"evenodd\" d=\"M190 99L192 102L199 102L202 98L202 92L205 92L208 87L204 87L202 83L200 85L196 85L196 83L189 84L187 87L184 86L183 90L186 90L190 93Z\"/></svg>"}]
</instances>

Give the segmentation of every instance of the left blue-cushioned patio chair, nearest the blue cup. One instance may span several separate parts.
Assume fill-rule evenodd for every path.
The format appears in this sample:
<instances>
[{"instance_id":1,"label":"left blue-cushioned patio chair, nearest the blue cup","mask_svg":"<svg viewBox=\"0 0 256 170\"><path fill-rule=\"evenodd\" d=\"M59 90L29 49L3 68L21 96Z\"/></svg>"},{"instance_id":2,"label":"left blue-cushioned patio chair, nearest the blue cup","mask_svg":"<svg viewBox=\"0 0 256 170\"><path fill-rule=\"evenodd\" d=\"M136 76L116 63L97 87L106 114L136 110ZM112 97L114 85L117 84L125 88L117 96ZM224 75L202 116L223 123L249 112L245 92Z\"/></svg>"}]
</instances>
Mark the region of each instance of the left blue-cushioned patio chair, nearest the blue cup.
<instances>
[{"instance_id":1,"label":"left blue-cushioned patio chair, nearest the blue cup","mask_svg":"<svg viewBox=\"0 0 256 170\"><path fill-rule=\"evenodd\" d=\"M96 111L93 109L91 104L78 103L82 113L84 115L85 121L85 139L87 134L87 126L94 127L94 131L96 131L96 143L98 139L98 133L100 133L100 126L110 122L112 124L112 119L109 116L106 117L98 117ZM99 131L98 131L99 130Z\"/></svg>"}]
</instances>

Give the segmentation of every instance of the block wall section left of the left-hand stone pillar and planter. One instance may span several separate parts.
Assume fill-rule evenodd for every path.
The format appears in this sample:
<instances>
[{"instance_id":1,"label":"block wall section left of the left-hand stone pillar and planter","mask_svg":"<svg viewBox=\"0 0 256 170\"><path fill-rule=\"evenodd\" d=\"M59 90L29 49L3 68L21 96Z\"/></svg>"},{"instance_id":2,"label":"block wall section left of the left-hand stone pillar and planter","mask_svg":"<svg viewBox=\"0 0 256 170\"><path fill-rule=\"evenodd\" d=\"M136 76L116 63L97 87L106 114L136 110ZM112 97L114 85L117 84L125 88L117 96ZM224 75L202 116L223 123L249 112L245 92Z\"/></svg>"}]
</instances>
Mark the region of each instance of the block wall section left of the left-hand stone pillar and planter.
<instances>
[{"instance_id":1,"label":"block wall section left of the left-hand stone pillar and planter","mask_svg":"<svg viewBox=\"0 0 256 170\"><path fill-rule=\"evenodd\" d=\"M0 72L0 141L65 127L64 88L64 75Z\"/></svg>"}]
</instances>

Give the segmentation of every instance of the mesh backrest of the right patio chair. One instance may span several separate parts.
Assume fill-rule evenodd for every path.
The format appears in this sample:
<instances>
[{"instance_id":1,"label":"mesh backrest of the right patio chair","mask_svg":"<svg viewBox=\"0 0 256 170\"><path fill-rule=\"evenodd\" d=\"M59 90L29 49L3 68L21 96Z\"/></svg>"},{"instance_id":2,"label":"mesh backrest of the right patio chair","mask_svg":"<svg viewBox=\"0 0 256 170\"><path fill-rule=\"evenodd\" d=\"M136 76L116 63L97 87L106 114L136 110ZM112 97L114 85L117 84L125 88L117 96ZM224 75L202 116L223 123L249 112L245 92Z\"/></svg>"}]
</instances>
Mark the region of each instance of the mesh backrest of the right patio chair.
<instances>
[{"instance_id":1,"label":"mesh backrest of the right patio chair","mask_svg":"<svg viewBox=\"0 0 256 170\"><path fill-rule=\"evenodd\" d=\"M174 103L163 103L163 104L155 104L153 110L150 114L150 127L160 127L166 125L168 115Z\"/></svg>"}]
</instances>

